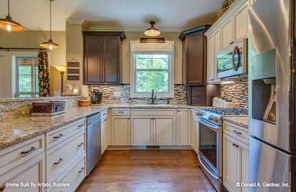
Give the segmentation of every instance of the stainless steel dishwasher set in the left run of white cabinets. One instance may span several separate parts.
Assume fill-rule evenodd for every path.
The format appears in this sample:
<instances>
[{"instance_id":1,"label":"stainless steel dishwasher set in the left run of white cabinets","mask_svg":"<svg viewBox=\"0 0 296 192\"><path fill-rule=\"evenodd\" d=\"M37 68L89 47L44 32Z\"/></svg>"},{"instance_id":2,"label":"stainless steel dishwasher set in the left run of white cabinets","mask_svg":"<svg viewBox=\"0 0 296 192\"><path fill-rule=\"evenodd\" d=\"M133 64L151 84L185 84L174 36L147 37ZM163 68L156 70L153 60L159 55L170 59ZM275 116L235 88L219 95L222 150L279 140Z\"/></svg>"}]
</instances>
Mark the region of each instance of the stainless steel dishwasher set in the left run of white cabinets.
<instances>
[{"instance_id":1,"label":"stainless steel dishwasher set in the left run of white cabinets","mask_svg":"<svg viewBox=\"0 0 296 192\"><path fill-rule=\"evenodd\" d=\"M101 158L101 114L97 113L87 118L87 154L88 175Z\"/></svg>"}]
</instances>

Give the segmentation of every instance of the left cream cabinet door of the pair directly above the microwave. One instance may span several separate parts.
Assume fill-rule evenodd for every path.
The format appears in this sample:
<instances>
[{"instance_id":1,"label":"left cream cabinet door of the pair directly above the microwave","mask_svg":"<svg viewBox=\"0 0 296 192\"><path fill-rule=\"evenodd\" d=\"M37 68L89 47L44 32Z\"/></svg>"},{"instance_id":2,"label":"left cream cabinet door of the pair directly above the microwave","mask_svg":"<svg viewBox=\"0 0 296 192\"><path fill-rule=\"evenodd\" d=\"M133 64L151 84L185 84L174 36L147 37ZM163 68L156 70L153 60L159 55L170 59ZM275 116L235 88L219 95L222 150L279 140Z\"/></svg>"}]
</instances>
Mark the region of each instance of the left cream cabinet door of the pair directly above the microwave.
<instances>
[{"instance_id":1,"label":"left cream cabinet door of the pair directly above the microwave","mask_svg":"<svg viewBox=\"0 0 296 192\"><path fill-rule=\"evenodd\" d=\"M228 18L221 26L222 49L233 43L233 18Z\"/></svg>"}]
</instances>

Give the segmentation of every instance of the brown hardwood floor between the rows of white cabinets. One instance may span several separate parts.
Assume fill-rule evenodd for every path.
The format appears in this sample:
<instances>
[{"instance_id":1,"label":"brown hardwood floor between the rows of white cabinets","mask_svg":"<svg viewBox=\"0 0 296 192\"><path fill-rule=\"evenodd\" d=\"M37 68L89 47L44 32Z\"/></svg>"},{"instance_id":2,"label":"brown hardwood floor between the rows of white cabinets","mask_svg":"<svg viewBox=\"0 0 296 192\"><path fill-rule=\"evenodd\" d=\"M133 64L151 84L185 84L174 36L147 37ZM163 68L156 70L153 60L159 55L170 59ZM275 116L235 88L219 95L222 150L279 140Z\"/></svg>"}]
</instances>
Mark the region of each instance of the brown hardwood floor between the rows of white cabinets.
<instances>
[{"instance_id":1,"label":"brown hardwood floor between the rows of white cabinets","mask_svg":"<svg viewBox=\"0 0 296 192\"><path fill-rule=\"evenodd\" d=\"M194 151L181 154L184 159L127 159L129 151L106 151L76 191L215 191Z\"/></svg>"}]
</instances>

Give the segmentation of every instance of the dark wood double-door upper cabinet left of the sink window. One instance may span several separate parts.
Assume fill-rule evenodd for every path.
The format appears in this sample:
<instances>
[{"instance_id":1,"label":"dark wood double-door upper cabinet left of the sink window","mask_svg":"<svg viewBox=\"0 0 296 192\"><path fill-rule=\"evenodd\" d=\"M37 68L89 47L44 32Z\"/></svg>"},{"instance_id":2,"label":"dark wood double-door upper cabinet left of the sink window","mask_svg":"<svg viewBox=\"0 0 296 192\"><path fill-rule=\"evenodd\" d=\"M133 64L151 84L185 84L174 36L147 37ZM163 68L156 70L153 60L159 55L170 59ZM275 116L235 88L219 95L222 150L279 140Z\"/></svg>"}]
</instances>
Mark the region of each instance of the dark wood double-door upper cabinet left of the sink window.
<instances>
[{"instance_id":1,"label":"dark wood double-door upper cabinet left of the sink window","mask_svg":"<svg viewBox=\"0 0 296 192\"><path fill-rule=\"evenodd\" d=\"M83 31L84 85L118 85L124 32Z\"/></svg>"}]
</instances>

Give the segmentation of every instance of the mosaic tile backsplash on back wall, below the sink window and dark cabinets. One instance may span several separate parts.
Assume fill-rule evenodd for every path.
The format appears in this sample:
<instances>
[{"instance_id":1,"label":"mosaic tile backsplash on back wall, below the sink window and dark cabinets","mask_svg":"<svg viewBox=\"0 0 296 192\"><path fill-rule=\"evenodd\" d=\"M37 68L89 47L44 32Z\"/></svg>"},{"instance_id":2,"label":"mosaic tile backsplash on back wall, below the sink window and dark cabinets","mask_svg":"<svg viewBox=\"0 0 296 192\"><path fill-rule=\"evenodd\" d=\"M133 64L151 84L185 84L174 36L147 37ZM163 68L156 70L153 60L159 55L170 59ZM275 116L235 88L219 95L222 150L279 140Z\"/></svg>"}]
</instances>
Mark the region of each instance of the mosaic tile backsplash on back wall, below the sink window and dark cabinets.
<instances>
[{"instance_id":1,"label":"mosaic tile backsplash on back wall, below the sink window and dark cabinets","mask_svg":"<svg viewBox=\"0 0 296 192\"><path fill-rule=\"evenodd\" d=\"M99 89L102 91L102 103L104 104L146 104L150 98L129 98L130 85L90 85L89 91ZM115 97L114 93L120 92L121 97ZM174 98L169 99L171 105L186 105L188 87L174 85ZM158 104L166 104L167 98L157 99Z\"/></svg>"}]
</instances>

